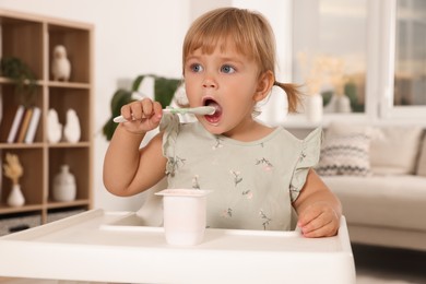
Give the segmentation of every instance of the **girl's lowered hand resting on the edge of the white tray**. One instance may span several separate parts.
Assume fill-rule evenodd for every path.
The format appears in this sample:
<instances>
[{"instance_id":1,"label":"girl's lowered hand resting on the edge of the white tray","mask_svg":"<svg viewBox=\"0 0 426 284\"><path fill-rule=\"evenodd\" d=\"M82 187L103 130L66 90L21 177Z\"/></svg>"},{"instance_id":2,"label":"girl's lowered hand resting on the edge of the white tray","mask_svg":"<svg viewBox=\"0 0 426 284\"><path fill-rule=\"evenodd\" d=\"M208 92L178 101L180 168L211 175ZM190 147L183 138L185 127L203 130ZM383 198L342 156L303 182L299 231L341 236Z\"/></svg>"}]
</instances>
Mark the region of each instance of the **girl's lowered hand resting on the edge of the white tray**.
<instances>
[{"instance_id":1,"label":"girl's lowered hand resting on the edge of the white tray","mask_svg":"<svg viewBox=\"0 0 426 284\"><path fill-rule=\"evenodd\" d=\"M338 234L340 217L330 204L316 202L301 212L297 226L308 238L331 237Z\"/></svg>"}]
</instances>

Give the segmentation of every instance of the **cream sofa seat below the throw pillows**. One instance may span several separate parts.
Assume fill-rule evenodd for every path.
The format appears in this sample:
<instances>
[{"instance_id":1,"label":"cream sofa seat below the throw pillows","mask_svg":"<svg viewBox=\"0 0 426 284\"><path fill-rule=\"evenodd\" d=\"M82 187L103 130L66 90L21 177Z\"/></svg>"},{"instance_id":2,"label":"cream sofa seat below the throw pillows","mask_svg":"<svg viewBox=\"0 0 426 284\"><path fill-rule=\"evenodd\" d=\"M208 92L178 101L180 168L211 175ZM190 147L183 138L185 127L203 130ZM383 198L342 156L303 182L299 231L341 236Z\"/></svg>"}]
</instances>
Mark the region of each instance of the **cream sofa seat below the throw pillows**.
<instances>
[{"instance_id":1,"label":"cream sofa seat below the throw pillows","mask_svg":"<svg viewBox=\"0 0 426 284\"><path fill-rule=\"evenodd\" d=\"M426 230L426 178L414 175L323 177L350 224Z\"/></svg>"}]
</instances>

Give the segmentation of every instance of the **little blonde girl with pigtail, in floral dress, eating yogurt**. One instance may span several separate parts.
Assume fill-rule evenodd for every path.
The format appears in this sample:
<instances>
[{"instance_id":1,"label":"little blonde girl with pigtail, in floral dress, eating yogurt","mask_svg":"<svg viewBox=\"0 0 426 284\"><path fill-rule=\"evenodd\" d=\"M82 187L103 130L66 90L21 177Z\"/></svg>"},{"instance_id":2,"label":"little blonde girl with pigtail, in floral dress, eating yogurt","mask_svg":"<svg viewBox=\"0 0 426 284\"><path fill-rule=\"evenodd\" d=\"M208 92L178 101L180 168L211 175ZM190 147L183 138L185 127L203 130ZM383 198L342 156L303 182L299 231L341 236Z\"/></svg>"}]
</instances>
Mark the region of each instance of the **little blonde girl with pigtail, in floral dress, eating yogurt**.
<instances>
[{"instance_id":1,"label":"little blonde girl with pigtail, in floral dress, eating yogurt","mask_svg":"<svg viewBox=\"0 0 426 284\"><path fill-rule=\"evenodd\" d=\"M253 116L275 81L274 36L259 13L236 8L200 16L184 42L184 79L190 107L212 106L213 115L179 123L157 102L125 105L128 120L117 127L104 162L104 184L114 194L144 191L167 176L168 188L209 189L208 226L291 229L292 206L306 237L336 234L340 201L311 168L319 158L321 131L300 141L282 127ZM140 149L145 133L161 132Z\"/></svg>"}]
</instances>

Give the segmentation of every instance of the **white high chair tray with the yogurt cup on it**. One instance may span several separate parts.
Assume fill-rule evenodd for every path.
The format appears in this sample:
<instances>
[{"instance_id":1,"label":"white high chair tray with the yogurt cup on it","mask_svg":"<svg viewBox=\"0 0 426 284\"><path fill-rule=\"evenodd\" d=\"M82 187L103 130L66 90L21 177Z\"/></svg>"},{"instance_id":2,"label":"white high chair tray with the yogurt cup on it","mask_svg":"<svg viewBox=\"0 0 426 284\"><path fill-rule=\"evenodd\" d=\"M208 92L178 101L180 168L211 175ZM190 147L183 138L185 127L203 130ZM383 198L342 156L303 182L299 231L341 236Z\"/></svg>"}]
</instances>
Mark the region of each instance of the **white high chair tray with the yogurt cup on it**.
<instances>
[{"instance_id":1,"label":"white high chair tray with the yogurt cup on it","mask_svg":"<svg viewBox=\"0 0 426 284\"><path fill-rule=\"evenodd\" d=\"M339 235L210 229L166 244L135 213L92 210L0 238L0 276L118 283L355 283L345 218Z\"/></svg>"}]
</instances>

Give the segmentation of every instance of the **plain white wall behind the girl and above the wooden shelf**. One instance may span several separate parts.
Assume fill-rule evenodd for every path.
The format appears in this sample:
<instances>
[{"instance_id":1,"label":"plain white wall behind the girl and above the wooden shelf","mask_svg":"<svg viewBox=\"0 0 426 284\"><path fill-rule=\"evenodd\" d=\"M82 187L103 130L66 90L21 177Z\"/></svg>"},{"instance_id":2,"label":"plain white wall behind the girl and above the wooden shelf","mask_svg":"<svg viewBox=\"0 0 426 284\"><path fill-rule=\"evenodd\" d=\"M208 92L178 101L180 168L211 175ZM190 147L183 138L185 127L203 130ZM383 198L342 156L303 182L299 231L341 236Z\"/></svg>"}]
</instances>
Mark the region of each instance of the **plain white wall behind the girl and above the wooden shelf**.
<instances>
[{"instance_id":1,"label":"plain white wall behind the girl and above the wooden shelf","mask_svg":"<svg viewBox=\"0 0 426 284\"><path fill-rule=\"evenodd\" d=\"M201 13L216 7L234 4L256 9L268 17L275 17L271 23L273 28L280 33L277 46L280 49L285 49L285 42L280 38L285 33L285 23L288 20L286 13L287 15L291 13L288 2L289 0L271 0L265 7L261 4L261 0L247 2L232 0L0 0L0 8L95 25L94 206L106 210L137 210L143 197L114 197L105 190L102 181L103 161L108 146L102 134L102 127L110 115L109 103L114 92L118 86L128 86L129 82L143 73L180 78L181 44L190 22ZM280 16L282 14L284 16ZM280 59L282 71L288 69L285 58L284 56ZM280 75L280 78L286 80L285 75ZM279 95L281 103L277 104L276 99L271 100L273 103L269 105L283 105L281 94ZM274 111L272 109L269 114L273 115Z\"/></svg>"}]
</instances>

